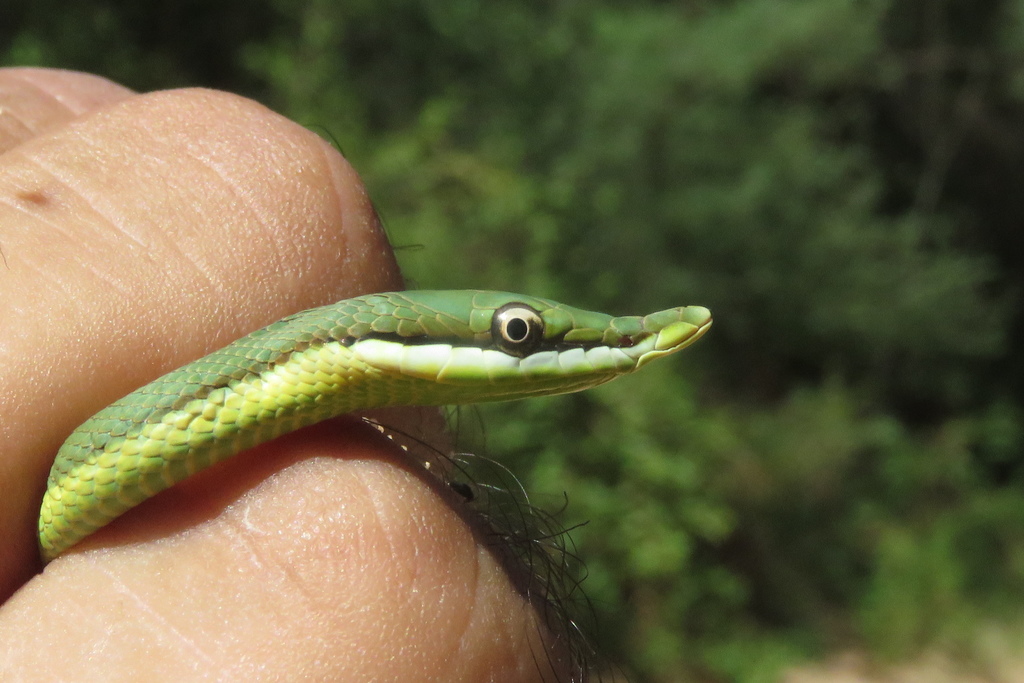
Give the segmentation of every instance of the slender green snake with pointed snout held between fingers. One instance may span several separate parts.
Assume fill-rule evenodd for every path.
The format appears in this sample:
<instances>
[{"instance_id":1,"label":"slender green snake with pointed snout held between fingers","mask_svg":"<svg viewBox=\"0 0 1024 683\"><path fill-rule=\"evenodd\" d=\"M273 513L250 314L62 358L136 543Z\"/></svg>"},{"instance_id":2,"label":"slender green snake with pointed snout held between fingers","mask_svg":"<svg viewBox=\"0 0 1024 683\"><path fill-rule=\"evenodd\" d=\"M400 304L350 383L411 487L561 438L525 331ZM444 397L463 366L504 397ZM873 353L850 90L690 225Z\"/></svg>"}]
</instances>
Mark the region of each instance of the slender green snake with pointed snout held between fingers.
<instances>
[{"instance_id":1,"label":"slender green snake with pointed snout held between fingers","mask_svg":"<svg viewBox=\"0 0 1024 683\"><path fill-rule=\"evenodd\" d=\"M49 562L178 481L362 409L579 391L696 341L701 306L612 317L506 292L371 294L273 323L86 420L57 452L39 512Z\"/></svg>"}]
</instances>

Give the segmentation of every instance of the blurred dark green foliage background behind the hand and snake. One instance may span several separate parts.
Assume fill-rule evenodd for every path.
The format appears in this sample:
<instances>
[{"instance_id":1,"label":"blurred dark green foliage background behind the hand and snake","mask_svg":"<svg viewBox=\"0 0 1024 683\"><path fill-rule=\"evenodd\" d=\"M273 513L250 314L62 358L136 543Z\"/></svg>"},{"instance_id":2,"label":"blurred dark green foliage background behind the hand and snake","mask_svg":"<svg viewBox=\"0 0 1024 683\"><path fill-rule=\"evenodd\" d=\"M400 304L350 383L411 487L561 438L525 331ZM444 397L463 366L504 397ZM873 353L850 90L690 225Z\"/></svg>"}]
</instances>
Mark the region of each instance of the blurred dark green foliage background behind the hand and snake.
<instances>
[{"instance_id":1,"label":"blurred dark green foliage background behind the hand and snake","mask_svg":"<svg viewBox=\"0 0 1024 683\"><path fill-rule=\"evenodd\" d=\"M939 657L1022 680L1021 0L0 16L5 66L222 88L333 138L415 287L714 311L657 370L481 410L473 447L589 520L571 538L620 675Z\"/></svg>"}]
</instances>

